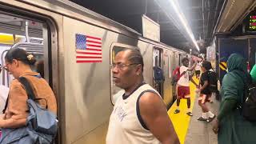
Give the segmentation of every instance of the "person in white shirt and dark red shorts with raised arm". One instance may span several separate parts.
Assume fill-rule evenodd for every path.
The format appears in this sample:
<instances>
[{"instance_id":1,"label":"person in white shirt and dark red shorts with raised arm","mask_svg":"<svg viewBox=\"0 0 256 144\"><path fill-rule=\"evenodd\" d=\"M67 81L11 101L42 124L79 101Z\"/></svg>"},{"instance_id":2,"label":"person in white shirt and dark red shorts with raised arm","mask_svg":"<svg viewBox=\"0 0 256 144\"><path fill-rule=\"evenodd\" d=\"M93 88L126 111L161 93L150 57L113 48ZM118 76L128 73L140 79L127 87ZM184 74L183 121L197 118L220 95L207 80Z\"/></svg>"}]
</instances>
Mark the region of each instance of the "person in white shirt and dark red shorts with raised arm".
<instances>
[{"instance_id":1,"label":"person in white shirt and dark red shorts with raised arm","mask_svg":"<svg viewBox=\"0 0 256 144\"><path fill-rule=\"evenodd\" d=\"M192 67L189 66L189 59L183 58L182 59L182 65L179 70L180 74L182 75L181 78L179 78L176 86L176 92L177 92L177 108L174 111L174 114L178 114L180 112L179 110L179 104L181 102L182 98L186 98L186 104L187 104L187 115L192 116L192 110L190 109L190 75L188 71L194 70L194 67L197 65L197 62L194 62L194 65Z\"/></svg>"}]
</instances>

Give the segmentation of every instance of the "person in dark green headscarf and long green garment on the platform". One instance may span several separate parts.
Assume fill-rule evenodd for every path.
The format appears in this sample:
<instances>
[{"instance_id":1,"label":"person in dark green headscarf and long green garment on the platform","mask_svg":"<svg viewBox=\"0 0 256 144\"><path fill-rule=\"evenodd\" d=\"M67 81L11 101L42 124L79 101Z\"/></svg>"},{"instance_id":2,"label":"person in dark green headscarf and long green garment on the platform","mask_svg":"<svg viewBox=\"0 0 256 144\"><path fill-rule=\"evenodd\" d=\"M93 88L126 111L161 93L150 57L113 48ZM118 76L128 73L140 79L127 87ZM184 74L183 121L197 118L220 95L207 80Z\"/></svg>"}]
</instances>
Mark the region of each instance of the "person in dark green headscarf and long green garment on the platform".
<instances>
[{"instance_id":1,"label":"person in dark green headscarf and long green garment on the platform","mask_svg":"<svg viewBox=\"0 0 256 144\"><path fill-rule=\"evenodd\" d=\"M256 122L243 118L238 106L242 106L244 84L250 77L246 60L239 54L231 54L227 61L228 73L222 80L222 102L214 122L218 144L251 144L256 142Z\"/></svg>"}]
</instances>

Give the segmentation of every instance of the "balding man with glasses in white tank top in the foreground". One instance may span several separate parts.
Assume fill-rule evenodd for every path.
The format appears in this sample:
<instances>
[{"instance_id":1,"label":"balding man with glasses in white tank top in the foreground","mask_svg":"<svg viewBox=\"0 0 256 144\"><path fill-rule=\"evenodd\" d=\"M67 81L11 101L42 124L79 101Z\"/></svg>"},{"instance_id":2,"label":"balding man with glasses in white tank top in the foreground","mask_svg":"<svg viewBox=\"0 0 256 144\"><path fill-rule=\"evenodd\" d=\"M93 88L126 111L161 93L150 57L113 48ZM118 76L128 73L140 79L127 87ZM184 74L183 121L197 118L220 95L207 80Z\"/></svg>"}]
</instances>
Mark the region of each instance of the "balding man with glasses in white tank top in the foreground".
<instances>
[{"instance_id":1,"label":"balding man with glasses in white tank top in the foreground","mask_svg":"<svg viewBox=\"0 0 256 144\"><path fill-rule=\"evenodd\" d=\"M124 91L110 116L106 144L179 143L160 94L143 82L143 66L138 50L126 49L114 58L114 83Z\"/></svg>"}]
</instances>

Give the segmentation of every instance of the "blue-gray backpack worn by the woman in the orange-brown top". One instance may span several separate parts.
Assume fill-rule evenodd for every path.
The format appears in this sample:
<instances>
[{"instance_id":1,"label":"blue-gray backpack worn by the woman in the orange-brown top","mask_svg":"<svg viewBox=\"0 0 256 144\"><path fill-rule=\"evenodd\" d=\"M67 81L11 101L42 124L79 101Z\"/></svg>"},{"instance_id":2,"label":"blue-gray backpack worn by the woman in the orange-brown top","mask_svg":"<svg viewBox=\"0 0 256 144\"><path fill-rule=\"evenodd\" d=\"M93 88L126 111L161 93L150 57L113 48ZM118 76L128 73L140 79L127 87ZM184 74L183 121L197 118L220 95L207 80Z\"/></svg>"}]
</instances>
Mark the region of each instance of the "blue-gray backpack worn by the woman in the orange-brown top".
<instances>
[{"instance_id":1,"label":"blue-gray backpack worn by the woman in the orange-brown top","mask_svg":"<svg viewBox=\"0 0 256 144\"><path fill-rule=\"evenodd\" d=\"M38 77L38 76L37 76ZM58 132L58 120L50 110L43 109L37 102L42 98L35 98L30 83L26 78L19 78L19 82L26 88L28 94L27 105L30 113L26 119L26 126L17 129L2 129L1 144L51 144Z\"/></svg>"}]
</instances>

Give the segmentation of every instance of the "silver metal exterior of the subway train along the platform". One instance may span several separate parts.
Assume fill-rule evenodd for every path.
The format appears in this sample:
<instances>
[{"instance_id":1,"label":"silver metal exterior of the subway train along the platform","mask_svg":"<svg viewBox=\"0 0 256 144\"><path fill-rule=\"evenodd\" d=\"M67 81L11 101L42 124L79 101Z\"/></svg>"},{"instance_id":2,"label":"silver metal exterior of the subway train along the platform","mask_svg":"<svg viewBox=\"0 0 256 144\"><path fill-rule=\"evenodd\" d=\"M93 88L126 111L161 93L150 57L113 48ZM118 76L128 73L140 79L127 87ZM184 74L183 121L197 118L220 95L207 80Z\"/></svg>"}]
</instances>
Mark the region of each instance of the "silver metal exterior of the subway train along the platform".
<instances>
[{"instance_id":1,"label":"silver metal exterior of the subway train along the platform","mask_svg":"<svg viewBox=\"0 0 256 144\"><path fill-rule=\"evenodd\" d=\"M58 143L105 143L111 102L110 63L114 47L138 47L144 58L145 82L154 85L154 50L158 50L165 82L166 105L173 101L171 73L186 53L69 1L2 0L0 13L43 22L45 75L58 99ZM102 62L76 63L75 34L102 38Z\"/></svg>"}]
</instances>

